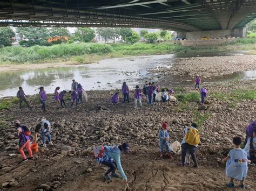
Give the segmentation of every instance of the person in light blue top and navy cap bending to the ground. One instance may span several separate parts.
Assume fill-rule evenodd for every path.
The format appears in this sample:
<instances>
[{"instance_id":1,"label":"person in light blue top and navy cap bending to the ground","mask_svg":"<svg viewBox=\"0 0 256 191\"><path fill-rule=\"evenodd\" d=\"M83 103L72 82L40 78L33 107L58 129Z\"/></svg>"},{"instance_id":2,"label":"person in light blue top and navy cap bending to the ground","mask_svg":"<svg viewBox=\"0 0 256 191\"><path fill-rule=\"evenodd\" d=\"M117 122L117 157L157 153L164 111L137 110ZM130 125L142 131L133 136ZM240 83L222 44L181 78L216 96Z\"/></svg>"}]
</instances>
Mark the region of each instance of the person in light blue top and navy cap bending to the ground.
<instances>
[{"instance_id":1,"label":"person in light blue top and navy cap bending to the ground","mask_svg":"<svg viewBox=\"0 0 256 191\"><path fill-rule=\"evenodd\" d=\"M104 178L107 181L111 180L109 173L113 178L119 178L119 174L116 173L116 169L121 173L123 180L127 183L127 177L121 165L120 155L121 153L129 153L129 144L123 143L116 146L104 146L103 157L100 159L100 163L109 167L104 173Z\"/></svg>"}]
</instances>

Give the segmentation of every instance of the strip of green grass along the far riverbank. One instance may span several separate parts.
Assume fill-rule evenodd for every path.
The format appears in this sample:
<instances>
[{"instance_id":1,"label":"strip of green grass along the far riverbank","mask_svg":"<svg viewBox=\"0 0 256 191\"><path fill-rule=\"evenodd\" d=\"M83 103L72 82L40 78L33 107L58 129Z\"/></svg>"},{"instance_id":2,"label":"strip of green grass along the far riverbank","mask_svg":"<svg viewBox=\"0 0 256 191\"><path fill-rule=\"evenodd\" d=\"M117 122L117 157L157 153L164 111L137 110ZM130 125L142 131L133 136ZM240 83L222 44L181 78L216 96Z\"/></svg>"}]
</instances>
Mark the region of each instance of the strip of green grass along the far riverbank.
<instances>
[{"instance_id":1,"label":"strip of green grass along the far riverbank","mask_svg":"<svg viewBox=\"0 0 256 191\"><path fill-rule=\"evenodd\" d=\"M72 61L91 63L105 58L117 58L127 55L154 55L185 52L214 52L256 50L256 38L238 39L236 42L219 46L198 47L181 46L173 42L159 44L136 43L130 44L60 44L53 46L4 47L0 48L0 63L38 63L48 61ZM61 59L61 60L60 60Z\"/></svg>"}]
</instances>

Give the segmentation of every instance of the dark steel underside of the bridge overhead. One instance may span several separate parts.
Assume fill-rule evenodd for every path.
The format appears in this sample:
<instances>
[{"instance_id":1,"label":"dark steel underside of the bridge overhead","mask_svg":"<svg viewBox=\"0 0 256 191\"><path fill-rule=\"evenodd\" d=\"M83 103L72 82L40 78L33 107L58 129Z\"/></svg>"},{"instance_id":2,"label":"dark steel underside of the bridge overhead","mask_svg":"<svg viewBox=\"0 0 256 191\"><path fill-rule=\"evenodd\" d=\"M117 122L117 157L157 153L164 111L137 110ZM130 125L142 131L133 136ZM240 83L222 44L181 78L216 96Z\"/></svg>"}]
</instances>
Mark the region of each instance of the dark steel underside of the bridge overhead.
<instances>
[{"instance_id":1,"label":"dark steel underside of the bridge overhead","mask_svg":"<svg viewBox=\"0 0 256 191\"><path fill-rule=\"evenodd\" d=\"M256 18L256 0L3 0L0 25L231 30Z\"/></svg>"}]
</instances>

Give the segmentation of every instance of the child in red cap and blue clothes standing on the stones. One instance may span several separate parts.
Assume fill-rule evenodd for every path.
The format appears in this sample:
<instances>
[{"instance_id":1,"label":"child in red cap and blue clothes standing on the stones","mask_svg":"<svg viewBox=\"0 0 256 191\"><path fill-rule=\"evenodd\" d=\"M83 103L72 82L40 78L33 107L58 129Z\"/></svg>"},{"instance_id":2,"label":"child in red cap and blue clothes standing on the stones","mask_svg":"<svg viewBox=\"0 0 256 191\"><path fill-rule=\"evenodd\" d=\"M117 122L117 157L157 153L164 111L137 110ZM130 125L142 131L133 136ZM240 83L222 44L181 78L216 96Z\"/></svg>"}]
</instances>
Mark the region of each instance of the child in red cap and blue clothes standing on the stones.
<instances>
[{"instance_id":1,"label":"child in red cap and blue clothes standing on the stones","mask_svg":"<svg viewBox=\"0 0 256 191\"><path fill-rule=\"evenodd\" d=\"M166 149L168 156L170 158L172 158L171 148L169 146L169 133L167 131L168 129L169 129L168 123L165 122L165 123L163 123L163 125L161 126L161 129L159 131L160 157L163 157L164 149Z\"/></svg>"}]
</instances>

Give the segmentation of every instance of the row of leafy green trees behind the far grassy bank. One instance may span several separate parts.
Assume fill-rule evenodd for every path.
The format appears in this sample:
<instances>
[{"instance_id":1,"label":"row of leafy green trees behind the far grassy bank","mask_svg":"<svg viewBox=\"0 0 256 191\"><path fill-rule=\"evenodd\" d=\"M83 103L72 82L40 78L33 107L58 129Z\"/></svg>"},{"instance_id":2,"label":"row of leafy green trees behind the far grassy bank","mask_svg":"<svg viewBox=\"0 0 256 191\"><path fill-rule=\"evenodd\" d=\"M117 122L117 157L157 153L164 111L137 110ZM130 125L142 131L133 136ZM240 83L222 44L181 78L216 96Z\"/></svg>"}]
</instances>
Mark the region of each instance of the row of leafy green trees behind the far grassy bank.
<instances>
[{"instance_id":1,"label":"row of leafy green trees behind the far grassy bank","mask_svg":"<svg viewBox=\"0 0 256 191\"><path fill-rule=\"evenodd\" d=\"M78 27L74 34L69 34L69 30L63 27L17 27L16 33L21 38L19 44L25 47L34 45L51 46L63 43L62 39L51 41L49 43L48 39L51 37L69 37L68 40L64 40L64 43L74 43L74 41L90 43L93 42L96 34L103 37L105 43L109 40L116 40L119 38L122 38L127 44L137 43L140 39L143 39L143 41L147 41L148 43L156 43L158 39L172 39L171 34L165 30L157 33L149 33L147 30L143 29L138 34L137 32L132 31L131 28L110 27L101 27L96 30L86 27ZM15 32L10 27L0 27L0 47L11 46L15 36Z\"/></svg>"}]
</instances>

